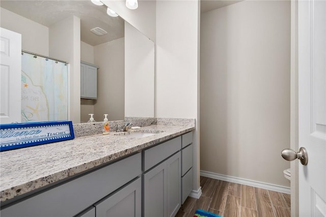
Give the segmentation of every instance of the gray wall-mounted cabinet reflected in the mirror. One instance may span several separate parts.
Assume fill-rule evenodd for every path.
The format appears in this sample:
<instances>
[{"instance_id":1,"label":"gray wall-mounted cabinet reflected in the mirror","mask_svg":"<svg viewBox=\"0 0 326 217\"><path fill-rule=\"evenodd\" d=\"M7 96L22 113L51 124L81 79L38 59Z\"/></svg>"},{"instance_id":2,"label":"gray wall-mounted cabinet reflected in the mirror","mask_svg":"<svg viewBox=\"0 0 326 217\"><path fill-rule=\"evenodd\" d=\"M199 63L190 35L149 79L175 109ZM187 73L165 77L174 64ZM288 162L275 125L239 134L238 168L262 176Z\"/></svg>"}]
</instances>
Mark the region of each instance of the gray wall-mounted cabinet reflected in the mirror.
<instances>
[{"instance_id":1,"label":"gray wall-mounted cabinet reflected in the mirror","mask_svg":"<svg viewBox=\"0 0 326 217\"><path fill-rule=\"evenodd\" d=\"M80 98L97 98L97 69L91 63L80 61Z\"/></svg>"}]
</instances>

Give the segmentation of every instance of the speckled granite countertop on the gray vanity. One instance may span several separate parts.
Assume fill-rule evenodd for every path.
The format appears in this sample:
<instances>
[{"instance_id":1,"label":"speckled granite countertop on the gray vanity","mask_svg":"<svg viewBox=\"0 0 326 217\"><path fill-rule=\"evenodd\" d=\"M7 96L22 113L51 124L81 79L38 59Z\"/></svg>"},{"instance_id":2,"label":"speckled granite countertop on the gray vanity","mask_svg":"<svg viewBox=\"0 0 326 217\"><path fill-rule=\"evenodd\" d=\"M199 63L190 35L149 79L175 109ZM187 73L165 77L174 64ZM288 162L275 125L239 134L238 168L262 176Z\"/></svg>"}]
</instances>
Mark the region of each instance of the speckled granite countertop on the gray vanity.
<instances>
[{"instance_id":1,"label":"speckled granite countertop on the gray vanity","mask_svg":"<svg viewBox=\"0 0 326 217\"><path fill-rule=\"evenodd\" d=\"M169 124L169 123L167 123ZM1 152L1 202L140 151L195 129L194 125L150 125L164 131L146 138L95 134L57 143Z\"/></svg>"}]
</instances>

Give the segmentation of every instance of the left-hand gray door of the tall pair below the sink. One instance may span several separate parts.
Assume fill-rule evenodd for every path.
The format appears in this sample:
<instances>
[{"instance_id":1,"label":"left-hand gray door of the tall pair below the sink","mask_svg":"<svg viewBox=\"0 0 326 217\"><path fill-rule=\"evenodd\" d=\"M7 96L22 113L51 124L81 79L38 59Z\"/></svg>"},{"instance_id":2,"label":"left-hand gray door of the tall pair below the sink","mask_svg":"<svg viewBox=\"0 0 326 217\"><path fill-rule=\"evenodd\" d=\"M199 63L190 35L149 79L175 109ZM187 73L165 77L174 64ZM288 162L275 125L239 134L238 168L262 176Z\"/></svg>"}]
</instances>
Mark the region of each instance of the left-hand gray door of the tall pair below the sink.
<instances>
[{"instance_id":1,"label":"left-hand gray door of the tall pair below the sink","mask_svg":"<svg viewBox=\"0 0 326 217\"><path fill-rule=\"evenodd\" d=\"M167 169L166 161L143 174L144 216L167 216Z\"/></svg>"}]
</instances>

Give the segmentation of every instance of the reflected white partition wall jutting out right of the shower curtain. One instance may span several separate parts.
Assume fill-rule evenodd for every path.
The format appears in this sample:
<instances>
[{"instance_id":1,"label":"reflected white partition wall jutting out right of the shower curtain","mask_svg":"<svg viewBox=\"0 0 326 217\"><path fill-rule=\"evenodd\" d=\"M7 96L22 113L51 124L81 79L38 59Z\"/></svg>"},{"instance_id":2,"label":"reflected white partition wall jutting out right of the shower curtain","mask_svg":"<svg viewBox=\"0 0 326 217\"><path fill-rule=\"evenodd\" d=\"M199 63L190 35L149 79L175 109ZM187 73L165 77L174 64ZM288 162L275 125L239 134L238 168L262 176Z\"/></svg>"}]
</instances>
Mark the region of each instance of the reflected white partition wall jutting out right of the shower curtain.
<instances>
[{"instance_id":1,"label":"reflected white partition wall jutting out right of the shower curtain","mask_svg":"<svg viewBox=\"0 0 326 217\"><path fill-rule=\"evenodd\" d=\"M80 19L70 16L49 28L49 56L69 62L69 120L80 123Z\"/></svg>"}]
</instances>

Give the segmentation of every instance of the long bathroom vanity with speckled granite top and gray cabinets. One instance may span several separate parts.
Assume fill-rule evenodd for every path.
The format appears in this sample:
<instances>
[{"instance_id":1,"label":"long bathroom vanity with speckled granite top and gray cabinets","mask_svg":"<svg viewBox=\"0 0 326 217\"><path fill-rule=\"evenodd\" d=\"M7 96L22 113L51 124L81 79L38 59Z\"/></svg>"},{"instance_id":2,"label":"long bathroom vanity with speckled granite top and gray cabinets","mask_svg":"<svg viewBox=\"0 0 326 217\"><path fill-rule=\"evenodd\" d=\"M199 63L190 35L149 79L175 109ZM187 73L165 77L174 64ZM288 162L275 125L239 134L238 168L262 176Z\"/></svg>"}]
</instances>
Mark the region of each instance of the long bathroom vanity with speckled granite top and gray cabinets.
<instances>
[{"instance_id":1,"label":"long bathroom vanity with speckled granite top and gray cabinets","mask_svg":"<svg viewBox=\"0 0 326 217\"><path fill-rule=\"evenodd\" d=\"M174 216L192 191L195 125L142 129L159 133L2 152L1 216Z\"/></svg>"}]
</instances>

